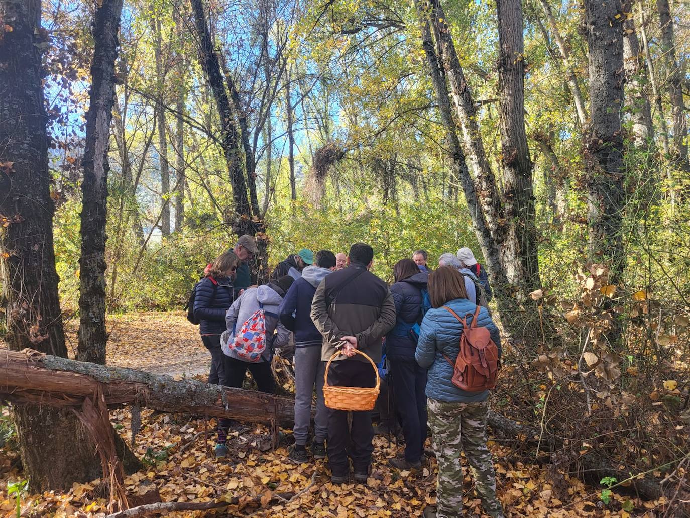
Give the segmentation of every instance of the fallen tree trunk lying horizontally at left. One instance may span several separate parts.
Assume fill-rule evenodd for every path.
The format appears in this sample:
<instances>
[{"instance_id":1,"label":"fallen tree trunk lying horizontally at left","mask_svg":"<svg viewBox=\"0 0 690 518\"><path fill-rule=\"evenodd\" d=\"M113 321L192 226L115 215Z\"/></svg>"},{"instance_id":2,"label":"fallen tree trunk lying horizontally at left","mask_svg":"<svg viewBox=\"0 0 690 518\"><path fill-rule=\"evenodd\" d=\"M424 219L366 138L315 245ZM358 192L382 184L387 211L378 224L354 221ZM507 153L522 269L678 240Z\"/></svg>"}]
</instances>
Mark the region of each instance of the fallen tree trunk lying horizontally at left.
<instances>
[{"instance_id":1,"label":"fallen tree trunk lying horizontally at left","mask_svg":"<svg viewBox=\"0 0 690 518\"><path fill-rule=\"evenodd\" d=\"M195 380L72 361L31 349L0 349L0 399L81 407L98 390L108 407L137 405L159 412L226 417L253 423L292 423L293 399Z\"/></svg>"}]
</instances>

